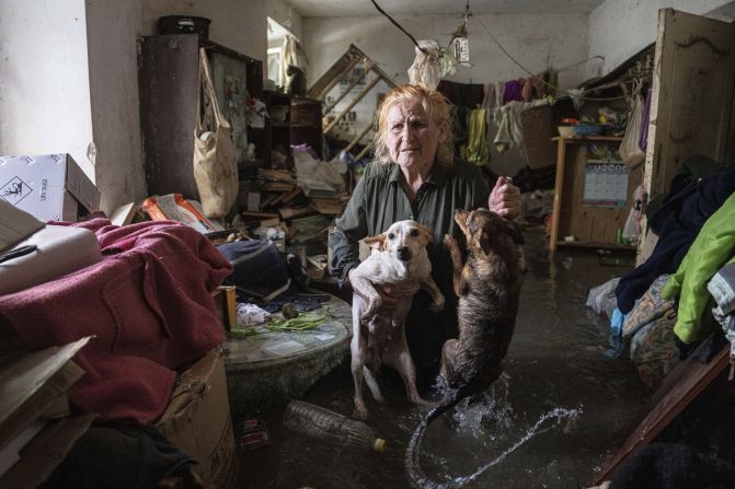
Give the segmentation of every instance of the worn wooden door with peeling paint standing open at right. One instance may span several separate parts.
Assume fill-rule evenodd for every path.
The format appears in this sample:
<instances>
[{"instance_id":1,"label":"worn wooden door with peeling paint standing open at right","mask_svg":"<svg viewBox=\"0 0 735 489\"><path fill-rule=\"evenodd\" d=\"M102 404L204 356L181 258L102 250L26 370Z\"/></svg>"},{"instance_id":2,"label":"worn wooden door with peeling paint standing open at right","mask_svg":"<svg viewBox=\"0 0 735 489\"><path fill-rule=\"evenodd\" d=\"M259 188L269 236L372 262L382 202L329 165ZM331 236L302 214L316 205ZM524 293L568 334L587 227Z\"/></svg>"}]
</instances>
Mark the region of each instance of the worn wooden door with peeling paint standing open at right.
<instances>
[{"instance_id":1,"label":"worn wooden door with peeling paint standing open at right","mask_svg":"<svg viewBox=\"0 0 735 489\"><path fill-rule=\"evenodd\" d=\"M735 159L734 85L735 25L659 10L643 181L648 200L669 190L688 156Z\"/></svg>"}]
</instances>

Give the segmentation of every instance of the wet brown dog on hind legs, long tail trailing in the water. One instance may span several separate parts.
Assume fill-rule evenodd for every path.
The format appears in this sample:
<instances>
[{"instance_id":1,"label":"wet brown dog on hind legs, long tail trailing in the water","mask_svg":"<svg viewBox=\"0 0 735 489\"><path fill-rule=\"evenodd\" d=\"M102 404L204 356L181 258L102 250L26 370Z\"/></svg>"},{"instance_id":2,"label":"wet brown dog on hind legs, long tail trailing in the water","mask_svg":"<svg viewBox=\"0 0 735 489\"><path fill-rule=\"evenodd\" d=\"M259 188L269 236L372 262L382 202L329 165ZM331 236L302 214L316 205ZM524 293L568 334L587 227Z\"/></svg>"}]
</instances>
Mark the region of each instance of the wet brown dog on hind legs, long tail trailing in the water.
<instances>
[{"instance_id":1,"label":"wet brown dog on hind legs, long tail trailing in the water","mask_svg":"<svg viewBox=\"0 0 735 489\"><path fill-rule=\"evenodd\" d=\"M455 221L467 240L467 263L451 236L445 244L455 268L459 298L459 339L441 351L441 376L447 389L437 407L423 419L406 450L406 470L414 487L437 487L418 463L418 445L428 424L461 399L490 387L502 372L516 325L526 260L520 231L487 209L458 210Z\"/></svg>"}]
</instances>

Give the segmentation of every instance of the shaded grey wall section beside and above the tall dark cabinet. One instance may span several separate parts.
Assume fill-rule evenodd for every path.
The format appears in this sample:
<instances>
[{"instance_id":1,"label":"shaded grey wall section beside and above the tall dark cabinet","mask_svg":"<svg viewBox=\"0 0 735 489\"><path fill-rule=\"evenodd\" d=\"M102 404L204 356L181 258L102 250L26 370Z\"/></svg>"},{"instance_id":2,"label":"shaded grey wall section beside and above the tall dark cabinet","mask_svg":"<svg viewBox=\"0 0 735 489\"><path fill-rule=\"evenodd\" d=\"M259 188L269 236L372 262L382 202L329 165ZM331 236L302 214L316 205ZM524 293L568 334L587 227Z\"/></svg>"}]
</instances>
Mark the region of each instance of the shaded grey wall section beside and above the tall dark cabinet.
<instances>
[{"instance_id":1,"label":"shaded grey wall section beside and above the tall dark cabinet","mask_svg":"<svg viewBox=\"0 0 735 489\"><path fill-rule=\"evenodd\" d=\"M209 38L265 59L263 1L95 0L88 2L90 97L97 148L97 187L106 211L146 197L138 109L136 36L158 32L162 15L211 20Z\"/></svg>"}]
</instances>

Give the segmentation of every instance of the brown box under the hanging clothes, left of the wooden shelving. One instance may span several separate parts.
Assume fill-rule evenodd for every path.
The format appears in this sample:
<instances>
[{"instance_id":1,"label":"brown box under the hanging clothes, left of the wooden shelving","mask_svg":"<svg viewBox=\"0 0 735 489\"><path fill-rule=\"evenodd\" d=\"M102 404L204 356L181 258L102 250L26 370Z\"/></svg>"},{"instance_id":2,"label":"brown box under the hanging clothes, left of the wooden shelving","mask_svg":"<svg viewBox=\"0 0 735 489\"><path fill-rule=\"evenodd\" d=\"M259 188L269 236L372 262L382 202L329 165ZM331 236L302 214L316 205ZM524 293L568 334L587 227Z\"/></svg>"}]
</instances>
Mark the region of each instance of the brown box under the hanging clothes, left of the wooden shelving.
<instances>
[{"instance_id":1,"label":"brown box under the hanging clothes, left of the wooden shelving","mask_svg":"<svg viewBox=\"0 0 735 489\"><path fill-rule=\"evenodd\" d=\"M556 163L556 142L551 138L559 136L551 107L542 105L520 113L524 130L524 150L526 163L531 168L540 168Z\"/></svg>"}]
</instances>

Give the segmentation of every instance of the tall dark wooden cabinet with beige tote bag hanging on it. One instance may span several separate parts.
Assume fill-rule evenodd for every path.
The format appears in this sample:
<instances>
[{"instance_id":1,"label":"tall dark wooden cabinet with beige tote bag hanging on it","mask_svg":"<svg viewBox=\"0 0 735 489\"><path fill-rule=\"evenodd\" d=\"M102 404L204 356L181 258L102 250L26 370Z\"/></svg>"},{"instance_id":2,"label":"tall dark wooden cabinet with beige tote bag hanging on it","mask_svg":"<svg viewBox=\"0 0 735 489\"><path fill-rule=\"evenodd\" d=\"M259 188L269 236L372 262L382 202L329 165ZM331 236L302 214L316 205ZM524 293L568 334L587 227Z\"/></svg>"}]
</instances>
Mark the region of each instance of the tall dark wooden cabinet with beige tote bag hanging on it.
<instances>
[{"instance_id":1,"label":"tall dark wooden cabinet with beige tote bag hanging on it","mask_svg":"<svg viewBox=\"0 0 735 489\"><path fill-rule=\"evenodd\" d=\"M263 96L263 65L196 34L138 37L142 160L148 195L198 198L192 158L199 97L199 48L207 50L219 106L231 120L242 168L251 139L246 94Z\"/></svg>"}]
</instances>

